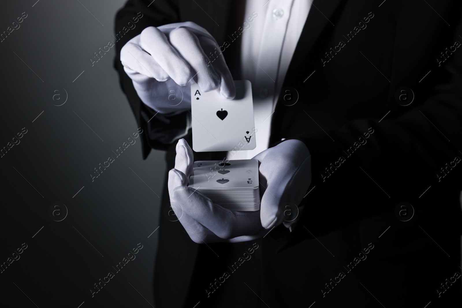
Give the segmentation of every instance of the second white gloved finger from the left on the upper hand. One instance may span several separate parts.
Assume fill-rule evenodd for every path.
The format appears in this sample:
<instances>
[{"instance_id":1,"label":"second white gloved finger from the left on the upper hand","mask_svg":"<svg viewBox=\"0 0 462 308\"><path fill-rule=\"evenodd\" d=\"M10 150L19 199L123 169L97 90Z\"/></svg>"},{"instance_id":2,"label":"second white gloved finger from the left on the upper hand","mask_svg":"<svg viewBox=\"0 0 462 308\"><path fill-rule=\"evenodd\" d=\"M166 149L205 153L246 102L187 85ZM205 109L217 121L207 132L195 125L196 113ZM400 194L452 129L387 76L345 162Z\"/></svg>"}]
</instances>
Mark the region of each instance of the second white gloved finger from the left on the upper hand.
<instances>
[{"instance_id":1,"label":"second white gloved finger from the left on the upper hand","mask_svg":"<svg viewBox=\"0 0 462 308\"><path fill-rule=\"evenodd\" d=\"M151 54L177 85L186 85L192 78L191 69L170 44L167 36L156 27L147 27L140 34L140 46Z\"/></svg>"}]
</instances>

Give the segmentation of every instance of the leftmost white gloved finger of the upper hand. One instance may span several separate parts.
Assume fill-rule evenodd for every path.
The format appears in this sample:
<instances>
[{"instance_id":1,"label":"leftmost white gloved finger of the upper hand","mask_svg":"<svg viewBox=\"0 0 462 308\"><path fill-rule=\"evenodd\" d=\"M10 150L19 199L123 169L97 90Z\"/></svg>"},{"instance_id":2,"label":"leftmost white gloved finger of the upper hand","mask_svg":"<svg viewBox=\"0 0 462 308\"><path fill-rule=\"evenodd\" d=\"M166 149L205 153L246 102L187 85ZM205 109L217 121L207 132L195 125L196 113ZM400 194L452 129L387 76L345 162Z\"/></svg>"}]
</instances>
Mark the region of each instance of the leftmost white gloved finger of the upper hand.
<instances>
[{"instance_id":1,"label":"leftmost white gloved finger of the upper hand","mask_svg":"<svg viewBox=\"0 0 462 308\"><path fill-rule=\"evenodd\" d=\"M158 81L170 79L169 74L140 47L140 36L135 36L125 44L120 52L120 60L125 68Z\"/></svg>"}]
</instances>

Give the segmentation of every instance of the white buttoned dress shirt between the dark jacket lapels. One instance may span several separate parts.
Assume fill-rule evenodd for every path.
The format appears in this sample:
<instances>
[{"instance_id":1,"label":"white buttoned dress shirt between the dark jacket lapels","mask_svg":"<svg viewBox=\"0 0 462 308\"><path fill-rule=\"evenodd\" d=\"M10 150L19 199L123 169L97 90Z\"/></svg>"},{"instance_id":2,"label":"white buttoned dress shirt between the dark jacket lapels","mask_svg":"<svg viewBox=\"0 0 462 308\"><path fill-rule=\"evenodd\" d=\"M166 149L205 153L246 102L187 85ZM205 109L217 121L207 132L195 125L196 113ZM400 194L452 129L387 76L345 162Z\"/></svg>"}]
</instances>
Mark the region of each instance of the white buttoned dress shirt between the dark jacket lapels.
<instances>
[{"instance_id":1,"label":"white buttoned dress shirt between the dark jacket lapels","mask_svg":"<svg viewBox=\"0 0 462 308\"><path fill-rule=\"evenodd\" d=\"M254 150L229 151L228 159L250 159L268 148L271 118L310 7L310 0L246 1L244 21L253 12L258 17L240 37L241 77L252 83L258 131Z\"/></svg>"}]
</instances>

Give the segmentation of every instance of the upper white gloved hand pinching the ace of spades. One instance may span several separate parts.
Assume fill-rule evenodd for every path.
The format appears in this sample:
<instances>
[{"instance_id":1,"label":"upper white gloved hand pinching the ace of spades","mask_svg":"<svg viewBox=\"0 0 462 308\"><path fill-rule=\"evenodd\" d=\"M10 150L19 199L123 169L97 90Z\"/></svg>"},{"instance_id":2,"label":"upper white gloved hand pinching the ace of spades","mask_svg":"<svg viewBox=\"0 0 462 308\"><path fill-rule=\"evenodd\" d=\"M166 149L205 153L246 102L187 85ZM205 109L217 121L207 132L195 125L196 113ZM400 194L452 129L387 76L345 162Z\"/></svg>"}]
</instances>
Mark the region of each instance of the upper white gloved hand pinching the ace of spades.
<instances>
[{"instance_id":1,"label":"upper white gloved hand pinching the ace of spades","mask_svg":"<svg viewBox=\"0 0 462 308\"><path fill-rule=\"evenodd\" d=\"M214 57L209 58L210 53ZM166 114L191 109L194 82L202 91L218 89L225 98L236 96L220 53L207 30L185 22L147 27L122 47L120 60L143 103ZM178 89L182 93L176 93Z\"/></svg>"}]
</instances>

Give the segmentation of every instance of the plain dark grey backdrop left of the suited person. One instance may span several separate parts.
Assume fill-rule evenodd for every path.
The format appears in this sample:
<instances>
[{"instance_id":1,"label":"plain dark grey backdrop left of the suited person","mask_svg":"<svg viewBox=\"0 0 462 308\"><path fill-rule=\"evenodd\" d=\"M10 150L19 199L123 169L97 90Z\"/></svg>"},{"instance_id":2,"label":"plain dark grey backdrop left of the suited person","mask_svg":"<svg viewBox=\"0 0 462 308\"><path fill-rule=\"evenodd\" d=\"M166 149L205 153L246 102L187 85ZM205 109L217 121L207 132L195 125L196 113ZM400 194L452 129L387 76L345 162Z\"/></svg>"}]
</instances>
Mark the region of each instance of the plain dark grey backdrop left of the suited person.
<instances>
[{"instance_id":1,"label":"plain dark grey backdrop left of the suited person","mask_svg":"<svg viewBox=\"0 0 462 308\"><path fill-rule=\"evenodd\" d=\"M23 243L27 249L0 273L0 307L153 305L152 232L164 153L152 151L143 161L138 138L115 156L138 127L113 68L115 47L94 66L89 60L115 42L114 18L124 2L2 2L1 33L23 12L27 18L0 42L0 148L23 127L27 133L0 158L0 264ZM65 91L67 102L54 106L64 103ZM92 182L90 174L109 156L115 162ZM55 202L68 211L59 222L49 215ZM58 209L55 216L65 217ZM138 243L136 259L117 273L112 266ZM115 277L91 297L108 272Z\"/></svg>"}]
</instances>

